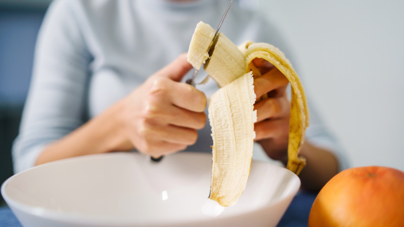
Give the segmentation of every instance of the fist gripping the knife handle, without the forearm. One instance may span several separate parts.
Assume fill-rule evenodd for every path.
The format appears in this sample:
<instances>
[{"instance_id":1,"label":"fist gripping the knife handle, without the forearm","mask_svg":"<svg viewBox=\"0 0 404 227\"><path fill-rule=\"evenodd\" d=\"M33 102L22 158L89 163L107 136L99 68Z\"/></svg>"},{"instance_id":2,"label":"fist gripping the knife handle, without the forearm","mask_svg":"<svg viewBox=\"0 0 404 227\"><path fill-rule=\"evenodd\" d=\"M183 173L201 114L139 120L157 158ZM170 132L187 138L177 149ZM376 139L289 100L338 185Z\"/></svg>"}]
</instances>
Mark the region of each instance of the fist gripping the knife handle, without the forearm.
<instances>
[{"instance_id":1,"label":"fist gripping the knife handle, without the forearm","mask_svg":"<svg viewBox=\"0 0 404 227\"><path fill-rule=\"evenodd\" d=\"M124 134L141 153L159 157L196 142L196 130L206 123L207 98L180 82L191 68L181 54L122 100Z\"/></svg>"}]
</instances>

